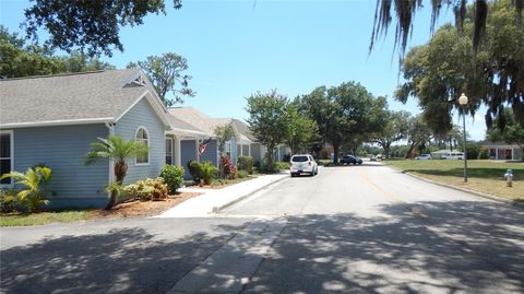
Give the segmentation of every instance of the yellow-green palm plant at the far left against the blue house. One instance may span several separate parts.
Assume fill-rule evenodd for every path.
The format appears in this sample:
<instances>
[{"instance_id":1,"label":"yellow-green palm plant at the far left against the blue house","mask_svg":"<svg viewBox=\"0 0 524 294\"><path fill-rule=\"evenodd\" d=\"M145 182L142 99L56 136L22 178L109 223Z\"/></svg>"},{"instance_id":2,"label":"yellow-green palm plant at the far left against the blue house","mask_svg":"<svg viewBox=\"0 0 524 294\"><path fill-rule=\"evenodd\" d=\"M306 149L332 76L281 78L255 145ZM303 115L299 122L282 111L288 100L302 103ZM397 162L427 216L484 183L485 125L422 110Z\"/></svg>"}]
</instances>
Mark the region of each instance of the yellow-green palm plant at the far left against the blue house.
<instances>
[{"instance_id":1,"label":"yellow-green palm plant at the far left against the blue house","mask_svg":"<svg viewBox=\"0 0 524 294\"><path fill-rule=\"evenodd\" d=\"M16 193L17 201L27 205L29 212L38 212L41 204L48 204L49 200L43 199L47 195L47 184L51 178L51 168L46 166L29 167L22 174L11 172L4 174L1 179L11 177L16 180L16 185L22 185L25 189Z\"/></svg>"}]
</instances>

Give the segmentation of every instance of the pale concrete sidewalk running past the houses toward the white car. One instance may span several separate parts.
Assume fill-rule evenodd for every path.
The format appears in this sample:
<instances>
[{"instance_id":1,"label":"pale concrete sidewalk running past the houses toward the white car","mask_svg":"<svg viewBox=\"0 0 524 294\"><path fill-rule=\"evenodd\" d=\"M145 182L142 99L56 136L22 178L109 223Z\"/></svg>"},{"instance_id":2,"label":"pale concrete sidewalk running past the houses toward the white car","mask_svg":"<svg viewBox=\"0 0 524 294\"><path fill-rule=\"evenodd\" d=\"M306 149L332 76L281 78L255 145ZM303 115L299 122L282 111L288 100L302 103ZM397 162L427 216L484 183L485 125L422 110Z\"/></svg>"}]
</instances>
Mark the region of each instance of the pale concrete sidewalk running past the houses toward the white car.
<instances>
[{"instance_id":1,"label":"pale concrete sidewalk running past the houses toward the white car","mask_svg":"<svg viewBox=\"0 0 524 294\"><path fill-rule=\"evenodd\" d=\"M204 192L204 195L193 197L154 217L207 216L213 212L219 211L251 196L267 185L274 184L287 177L289 177L289 173L264 175L222 189L182 188L180 191L196 191Z\"/></svg>"}]
</instances>

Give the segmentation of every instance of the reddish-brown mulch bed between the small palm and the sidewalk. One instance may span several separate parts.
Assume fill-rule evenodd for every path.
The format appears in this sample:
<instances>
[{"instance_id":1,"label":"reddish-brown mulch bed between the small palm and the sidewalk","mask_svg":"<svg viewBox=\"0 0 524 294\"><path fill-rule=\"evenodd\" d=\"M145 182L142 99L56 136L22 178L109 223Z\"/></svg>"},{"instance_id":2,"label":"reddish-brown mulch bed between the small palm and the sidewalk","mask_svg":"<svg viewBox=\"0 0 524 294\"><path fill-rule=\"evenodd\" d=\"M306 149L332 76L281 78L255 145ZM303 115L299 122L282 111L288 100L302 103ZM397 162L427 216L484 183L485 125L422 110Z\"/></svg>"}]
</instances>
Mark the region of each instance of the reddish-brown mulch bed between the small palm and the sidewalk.
<instances>
[{"instance_id":1,"label":"reddish-brown mulch bed between the small palm and the sidewalk","mask_svg":"<svg viewBox=\"0 0 524 294\"><path fill-rule=\"evenodd\" d=\"M140 201L128 200L118 203L111 210L95 210L93 216L95 219L124 219L124 217L144 217L155 216L180 204L181 202L199 196L199 192L180 192L171 195L169 198L160 201Z\"/></svg>"}]
</instances>

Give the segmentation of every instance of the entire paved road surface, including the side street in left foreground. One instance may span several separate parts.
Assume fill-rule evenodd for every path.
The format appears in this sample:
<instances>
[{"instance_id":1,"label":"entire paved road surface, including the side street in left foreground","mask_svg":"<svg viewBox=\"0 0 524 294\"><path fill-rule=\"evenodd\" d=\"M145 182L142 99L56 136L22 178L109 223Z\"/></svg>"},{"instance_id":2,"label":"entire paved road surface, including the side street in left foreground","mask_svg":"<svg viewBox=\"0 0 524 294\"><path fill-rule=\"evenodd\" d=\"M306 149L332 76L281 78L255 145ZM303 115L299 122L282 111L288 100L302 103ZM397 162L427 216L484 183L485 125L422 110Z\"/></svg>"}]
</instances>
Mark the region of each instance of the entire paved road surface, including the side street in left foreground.
<instances>
[{"instance_id":1,"label":"entire paved road surface, including the side street in left foreground","mask_svg":"<svg viewBox=\"0 0 524 294\"><path fill-rule=\"evenodd\" d=\"M370 163L211 217L0 233L1 293L524 293L524 210Z\"/></svg>"}]
</instances>

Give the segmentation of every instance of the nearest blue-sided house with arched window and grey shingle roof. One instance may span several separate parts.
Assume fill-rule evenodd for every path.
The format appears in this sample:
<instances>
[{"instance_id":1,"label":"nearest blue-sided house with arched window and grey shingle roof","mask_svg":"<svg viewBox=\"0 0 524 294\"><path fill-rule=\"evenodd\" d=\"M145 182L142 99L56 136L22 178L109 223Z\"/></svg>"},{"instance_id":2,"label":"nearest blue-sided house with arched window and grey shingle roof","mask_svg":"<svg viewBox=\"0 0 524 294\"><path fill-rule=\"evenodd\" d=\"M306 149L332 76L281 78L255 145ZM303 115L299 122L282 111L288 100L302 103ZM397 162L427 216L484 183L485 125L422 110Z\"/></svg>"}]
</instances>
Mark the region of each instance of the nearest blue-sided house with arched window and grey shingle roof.
<instances>
[{"instance_id":1,"label":"nearest blue-sided house with arched window and grey shingle roof","mask_svg":"<svg viewBox=\"0 0 524 294\"><path fill-rule=\"evenodd\" d=\"M148 144L146 156L128 162L129 184L157 177L166 161L181 163L176 144L183 136L203 134L169 118L136 69L0 80L0 105L1 174L46 164L52 169L53 208L102 207L107 201L112 164L84 165L97 138L115 134ZM13 187L13 180L1 186Z\"/></svg>"}]
</instances>

